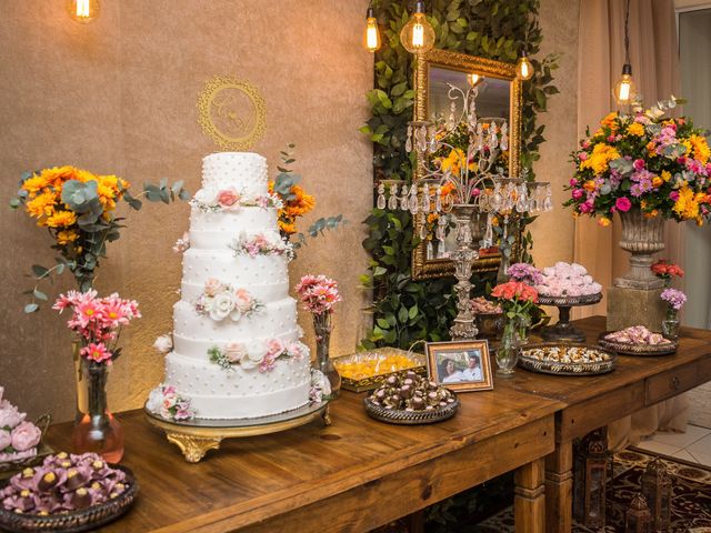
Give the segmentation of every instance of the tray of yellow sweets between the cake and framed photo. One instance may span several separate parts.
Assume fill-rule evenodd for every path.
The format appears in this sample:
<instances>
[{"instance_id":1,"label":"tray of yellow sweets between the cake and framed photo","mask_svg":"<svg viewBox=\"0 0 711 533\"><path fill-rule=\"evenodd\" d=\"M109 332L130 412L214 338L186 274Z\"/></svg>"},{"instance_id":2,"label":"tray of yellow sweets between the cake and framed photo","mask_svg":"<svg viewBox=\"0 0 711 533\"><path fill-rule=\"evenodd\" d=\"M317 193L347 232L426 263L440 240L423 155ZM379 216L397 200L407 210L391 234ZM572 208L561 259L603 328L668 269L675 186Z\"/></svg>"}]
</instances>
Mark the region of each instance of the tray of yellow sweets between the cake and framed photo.
<instances>
[{"instance_id":1,"label":"tray of yellow sweets between the cake and framed photo","mask_svg":"<svg viewBox=\"0 0 711 533\"><path fill-rule=\"evenodd\" d=\"M341 389L353 392L372 391L395 372L412 370L425 375L427 363L421 353L398 348L380 348L333 360L341 376Z\"/></svg>"}]
</instances>

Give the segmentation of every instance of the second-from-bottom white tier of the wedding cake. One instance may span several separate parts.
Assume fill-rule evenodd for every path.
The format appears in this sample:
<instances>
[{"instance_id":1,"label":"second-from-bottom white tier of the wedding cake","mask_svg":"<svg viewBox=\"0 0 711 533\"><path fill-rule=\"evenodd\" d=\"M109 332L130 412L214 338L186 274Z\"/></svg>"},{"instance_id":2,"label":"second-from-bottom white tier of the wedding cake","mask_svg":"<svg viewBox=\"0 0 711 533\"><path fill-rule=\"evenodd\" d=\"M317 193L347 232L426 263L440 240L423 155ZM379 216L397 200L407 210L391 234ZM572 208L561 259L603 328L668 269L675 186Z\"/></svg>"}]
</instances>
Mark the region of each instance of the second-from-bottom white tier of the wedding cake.
<instances>
[{"instance_id":1,"label":"second-from-bottom white tier of the wedding cake","mask_svg":"<svg viewBox=\"0 0 711 533\"><path fill-rule=\"evenodd\" d=\"M267 303L238 322L229 316L216 321L208 314L200 315L192 304L182 300L173 306L173 330L188 339L242 341L252 336L274 336L294 330L296 324L297 302L293 298Z\"/></svg>"}]
</instances>

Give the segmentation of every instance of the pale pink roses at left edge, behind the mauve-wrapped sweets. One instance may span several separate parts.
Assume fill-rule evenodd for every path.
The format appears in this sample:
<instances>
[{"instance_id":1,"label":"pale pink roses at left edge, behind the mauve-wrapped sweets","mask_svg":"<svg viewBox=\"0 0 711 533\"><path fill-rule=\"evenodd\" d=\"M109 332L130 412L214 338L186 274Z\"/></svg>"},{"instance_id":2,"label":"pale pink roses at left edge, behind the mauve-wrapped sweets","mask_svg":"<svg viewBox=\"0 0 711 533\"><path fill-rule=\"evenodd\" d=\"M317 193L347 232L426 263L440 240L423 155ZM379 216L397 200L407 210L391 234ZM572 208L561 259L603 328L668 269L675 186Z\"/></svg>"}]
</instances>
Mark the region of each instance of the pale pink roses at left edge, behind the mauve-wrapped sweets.
<instances>
[{"instance_id":1,"label":"pale pink roses at left edge, behind the mauve-wrapped sweets","mask_svg":"<svg viewBox=\"0 0 711 533\"><path fill-rule=\"evenodd\" d=\"M3 400L4 389L0 386L0 463L20 461L37 455L37 446L42 432L8 400Z\"/></svg>"}]
</instances>

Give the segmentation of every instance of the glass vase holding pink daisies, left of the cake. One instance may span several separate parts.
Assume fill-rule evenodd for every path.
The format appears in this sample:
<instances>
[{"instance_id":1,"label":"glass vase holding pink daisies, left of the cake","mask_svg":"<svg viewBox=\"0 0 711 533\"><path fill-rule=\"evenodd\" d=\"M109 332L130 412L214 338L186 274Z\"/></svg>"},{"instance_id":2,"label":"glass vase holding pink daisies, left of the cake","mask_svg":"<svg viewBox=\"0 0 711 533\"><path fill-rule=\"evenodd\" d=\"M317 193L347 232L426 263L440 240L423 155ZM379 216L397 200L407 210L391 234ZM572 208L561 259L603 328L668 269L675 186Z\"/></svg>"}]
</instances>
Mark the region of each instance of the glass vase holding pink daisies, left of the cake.
<instances>
[{"instance_id":1,"label":"glass vase holding pink daisies, left of the cake","mask_svg":"<svg viewBox=\"0 0 711 533\"><path fill-rule=\"evenodd\" d=\"M123 456L123 430L107 404L109 366L81 358L77 383L78 420L72 444L74 453L93 452L109 463Z\"/></svg>"}]
</instances>

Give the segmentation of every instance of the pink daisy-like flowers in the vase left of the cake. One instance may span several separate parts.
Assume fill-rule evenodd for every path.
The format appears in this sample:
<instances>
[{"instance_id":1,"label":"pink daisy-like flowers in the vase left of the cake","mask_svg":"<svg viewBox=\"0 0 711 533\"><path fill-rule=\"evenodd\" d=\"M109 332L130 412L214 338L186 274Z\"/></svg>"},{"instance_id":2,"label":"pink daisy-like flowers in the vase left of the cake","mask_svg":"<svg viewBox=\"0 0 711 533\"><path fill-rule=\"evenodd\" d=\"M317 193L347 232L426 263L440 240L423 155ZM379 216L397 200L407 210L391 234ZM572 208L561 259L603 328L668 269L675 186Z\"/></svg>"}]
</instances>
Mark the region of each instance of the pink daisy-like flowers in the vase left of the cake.
<instances>
[{"instance_id":1,"label":"pink daisy-like flowers in the vase left of the cake","mask_svg":"<svg viewBox=\"0 0 711 533\"><path fill-rule=\"evenodd\" d=\"M69 308L72 316L67 325L81 339L79 353L87 360L106 364L111 364L121 352L117 348L121 329L141 316L134 300L123 300L116 292L98 298L93 289L61 294L52 309L61 313Z\"/></svg>"}]
</instances>

